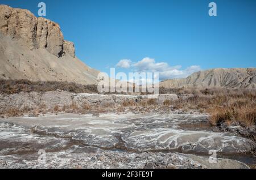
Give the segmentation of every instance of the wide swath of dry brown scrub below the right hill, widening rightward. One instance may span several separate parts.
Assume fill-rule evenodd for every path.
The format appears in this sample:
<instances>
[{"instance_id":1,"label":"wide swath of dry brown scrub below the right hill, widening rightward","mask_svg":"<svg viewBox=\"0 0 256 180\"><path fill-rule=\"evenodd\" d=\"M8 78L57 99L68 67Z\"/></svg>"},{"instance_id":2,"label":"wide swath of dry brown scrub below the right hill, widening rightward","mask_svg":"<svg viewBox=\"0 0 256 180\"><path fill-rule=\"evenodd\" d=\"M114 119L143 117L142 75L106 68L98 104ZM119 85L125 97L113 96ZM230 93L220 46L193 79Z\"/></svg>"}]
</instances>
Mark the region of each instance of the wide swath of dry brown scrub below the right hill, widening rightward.
<instances>
[{"instance_id":1,"label":"wide swath of dry brown scrub below the right hill, widening rightward","mask_svg":"<svg viewBox=\"0 0 256 180\"><path fill-rule=\"evenodd\" d=\"M203 89L192 97L172 102L175 109L199 109L210 115L210 123L256 123L256 91L254 89Z\"/></svg>"}]
</instances>

